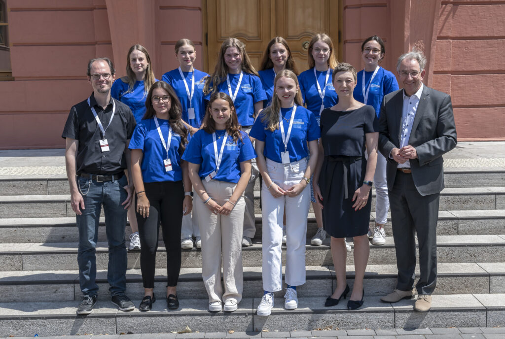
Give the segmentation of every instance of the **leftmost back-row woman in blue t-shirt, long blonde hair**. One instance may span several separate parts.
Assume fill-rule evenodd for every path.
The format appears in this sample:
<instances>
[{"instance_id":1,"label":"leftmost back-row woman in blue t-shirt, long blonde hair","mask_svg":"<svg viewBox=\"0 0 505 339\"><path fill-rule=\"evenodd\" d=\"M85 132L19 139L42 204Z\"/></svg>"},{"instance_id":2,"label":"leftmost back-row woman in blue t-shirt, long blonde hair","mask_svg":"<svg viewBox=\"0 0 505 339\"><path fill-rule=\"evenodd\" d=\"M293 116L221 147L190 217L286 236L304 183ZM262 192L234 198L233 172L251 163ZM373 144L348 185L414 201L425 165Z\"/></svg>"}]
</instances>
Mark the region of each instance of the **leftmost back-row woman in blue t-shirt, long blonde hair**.
<instances>
[{"instance_id":1,"label":"leftmost back-row woman in blue t-shirt, long blonde hair","mask_svg":"<svg viewBox=\"0 0 505 339\"><path fill-rule=\"evenodd\" d=\"M145 98L147 91L156 82L149 52L142 45L133 45L128 50L126 57L126 77L114 81L111 95L130 107L133 117L138 124L145 114ZM135 209L128 209L131 235L129 250L139 250L140 240L138 236L137 217Z\"/></svg>"}]
</instances>

